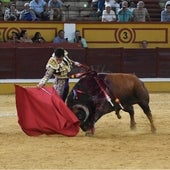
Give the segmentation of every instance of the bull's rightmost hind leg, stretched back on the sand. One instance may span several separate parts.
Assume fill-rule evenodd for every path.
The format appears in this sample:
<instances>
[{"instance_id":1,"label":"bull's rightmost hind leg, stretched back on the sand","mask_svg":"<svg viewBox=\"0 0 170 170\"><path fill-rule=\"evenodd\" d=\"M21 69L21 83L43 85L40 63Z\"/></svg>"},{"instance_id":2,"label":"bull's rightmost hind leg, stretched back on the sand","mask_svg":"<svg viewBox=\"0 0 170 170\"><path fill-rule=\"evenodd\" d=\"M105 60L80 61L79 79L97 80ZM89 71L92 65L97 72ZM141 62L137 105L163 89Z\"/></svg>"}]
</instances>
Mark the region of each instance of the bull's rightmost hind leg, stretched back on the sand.
<instances>
[{"instance_id":1,"label":"bull's rightmost hind leg, stretched back on the sand","mask_svg":"<svg viewBox=\"0 0 170 170\"><path fill-rule=\"evenodd\" d=\"M156 132L156 127L155 127L154 122L153 122L153 118L152 118L152 114L151 114L151 110L150 110L149 105L148 104L139 104L139 105L143 109L143 112L145 113L145 115L147 116L147 118L150 122L151 131L153 133Z\"/></svg>"}]
</instances>

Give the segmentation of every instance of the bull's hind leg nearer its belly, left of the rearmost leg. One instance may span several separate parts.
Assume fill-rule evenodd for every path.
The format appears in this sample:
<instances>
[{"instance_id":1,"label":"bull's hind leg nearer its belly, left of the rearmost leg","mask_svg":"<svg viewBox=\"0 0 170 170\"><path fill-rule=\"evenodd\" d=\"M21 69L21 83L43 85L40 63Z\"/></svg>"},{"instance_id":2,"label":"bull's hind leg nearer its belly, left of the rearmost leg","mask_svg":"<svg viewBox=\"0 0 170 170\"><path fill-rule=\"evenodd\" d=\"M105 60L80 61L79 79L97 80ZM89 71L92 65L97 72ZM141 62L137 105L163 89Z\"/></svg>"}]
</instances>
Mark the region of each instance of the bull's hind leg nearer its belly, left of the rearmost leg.
<instances>
[{"instance_id":1,"label":"bull's hind leg nearer its belly, left of the rearmost leg","mask_svg":"<svg viewBox=\"0 0 170 170\"><path fill-rule=\"evenodd\" d=\"M131 129L135 129L136 128L136 122L135 122L135 112L134 112L134 108L133 106L128 106L128 107L124 107L124 111L128 112L130 115L130 128Z\"/></svg>"}]
</instances>

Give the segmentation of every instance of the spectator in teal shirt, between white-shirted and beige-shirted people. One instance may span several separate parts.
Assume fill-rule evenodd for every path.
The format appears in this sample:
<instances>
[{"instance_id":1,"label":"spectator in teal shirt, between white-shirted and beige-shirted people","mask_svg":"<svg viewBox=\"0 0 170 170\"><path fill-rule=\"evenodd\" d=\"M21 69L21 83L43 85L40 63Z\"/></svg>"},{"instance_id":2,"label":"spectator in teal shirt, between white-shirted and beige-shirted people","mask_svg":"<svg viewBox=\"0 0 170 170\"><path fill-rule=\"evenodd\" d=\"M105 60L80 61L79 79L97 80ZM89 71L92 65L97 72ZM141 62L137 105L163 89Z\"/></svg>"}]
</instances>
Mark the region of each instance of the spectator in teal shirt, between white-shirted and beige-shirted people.
<instances>
[{"instance_id":1,"label":"spectator in teal shirt, between white-shirted and beige-shirted people","mask_svg":"<svg viewBox=\"0 0 170 170\"><path fill-rule=\"evenodd\" d=\"M132 12L128 9L128 2L123 1L121 6L118 11L118 22L132 21Z\"/></svg>"}]
</instances>

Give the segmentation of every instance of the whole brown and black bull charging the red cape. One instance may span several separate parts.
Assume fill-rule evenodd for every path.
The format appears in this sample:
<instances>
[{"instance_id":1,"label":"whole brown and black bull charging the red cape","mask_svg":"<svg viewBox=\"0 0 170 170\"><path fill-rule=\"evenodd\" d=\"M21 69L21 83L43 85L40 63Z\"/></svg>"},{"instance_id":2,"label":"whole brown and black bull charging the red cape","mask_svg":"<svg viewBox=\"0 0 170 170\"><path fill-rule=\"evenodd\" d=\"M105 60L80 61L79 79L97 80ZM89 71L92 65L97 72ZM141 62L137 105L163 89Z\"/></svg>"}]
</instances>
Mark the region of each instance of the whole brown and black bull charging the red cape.
<instances>
[{"instance_id":1,"label":"whole brown and black bull charging the red cape","mask_svg":"<svg viewBox=\"0 0 170 170\"><path fill-rule=\"evenodd\" d=\"M81 129L88 133L94 133L95 122L104 114L115 111L120 119L121 109L129 113L130 127L134 129L134 104L142 108L150 122L151 131L155 132L148 91L133 74L97 74L90 71L80 78L67 98L67 105L80 120Z\"/></svg>"}]
</instances>

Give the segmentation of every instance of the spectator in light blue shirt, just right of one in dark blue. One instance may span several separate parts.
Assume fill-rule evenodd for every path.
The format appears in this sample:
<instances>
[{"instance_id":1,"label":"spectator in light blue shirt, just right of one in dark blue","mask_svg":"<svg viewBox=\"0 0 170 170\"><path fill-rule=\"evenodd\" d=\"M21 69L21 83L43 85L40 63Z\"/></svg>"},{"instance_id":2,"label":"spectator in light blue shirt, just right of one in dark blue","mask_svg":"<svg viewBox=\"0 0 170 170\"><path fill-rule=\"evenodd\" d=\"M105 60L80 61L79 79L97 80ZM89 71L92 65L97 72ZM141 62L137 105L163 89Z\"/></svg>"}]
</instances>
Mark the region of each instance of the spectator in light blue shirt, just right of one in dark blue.
<instances>
[{"instance_id":1,"label":"spectator in light blue shirt, just right of one in dark blue","mask_svg":"<svg viewBox=\"0 0 170 170\"><path fill-rule=\"evenodd\" d=\"M30 9L35 13L39 20L49 20L48 8L45 0L31 0Z\"/></svg>"}]
</instances>

